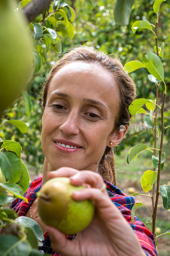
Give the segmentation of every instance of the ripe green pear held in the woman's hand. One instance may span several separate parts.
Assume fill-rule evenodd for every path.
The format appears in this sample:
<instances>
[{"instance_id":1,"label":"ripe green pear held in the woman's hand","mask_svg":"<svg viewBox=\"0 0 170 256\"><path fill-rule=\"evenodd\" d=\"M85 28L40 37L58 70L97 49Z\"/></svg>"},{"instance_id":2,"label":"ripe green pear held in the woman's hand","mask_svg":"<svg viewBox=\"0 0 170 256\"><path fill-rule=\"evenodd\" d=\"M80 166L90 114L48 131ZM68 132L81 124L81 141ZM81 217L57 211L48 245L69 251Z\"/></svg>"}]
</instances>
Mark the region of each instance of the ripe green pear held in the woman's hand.
<instances>
[{"instance_id":1,"label":"ripe green pear held in the woman's hand","mask_svg":"<svg viewBox=\"0 0 170 256\"><path fill-rule=\"evenodd\" d=\"M85 229L93 218L94 204L90 199L75 201L71 198L74 191L83 188L71 185L66 177L48 180L37 193L42 221L69 235Z\"/></svg>"}]
</instances>

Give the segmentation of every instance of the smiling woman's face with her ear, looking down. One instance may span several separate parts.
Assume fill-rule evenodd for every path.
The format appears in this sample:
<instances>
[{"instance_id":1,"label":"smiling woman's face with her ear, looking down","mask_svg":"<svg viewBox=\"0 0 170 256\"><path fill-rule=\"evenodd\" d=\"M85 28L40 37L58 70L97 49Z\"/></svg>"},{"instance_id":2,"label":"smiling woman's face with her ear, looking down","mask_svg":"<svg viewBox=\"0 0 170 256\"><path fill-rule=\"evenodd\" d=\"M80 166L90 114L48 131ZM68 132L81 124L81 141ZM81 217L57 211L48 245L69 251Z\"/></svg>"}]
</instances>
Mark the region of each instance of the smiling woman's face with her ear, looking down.
<instances>
[{"instance_id":1,"label":"smiling woman's face with her ear, looking down","mask_svg":"<svg viewBox=\"0 0 170 256\"><path fill-rule=\"evenodd\" d=\"M43 113L41 144L51 171L98 170L109 142L113 147L123 138L112 134L117 110L118 88L109 71L83 61L61 68L49 84Z\"/></svg>"}]
</instances>

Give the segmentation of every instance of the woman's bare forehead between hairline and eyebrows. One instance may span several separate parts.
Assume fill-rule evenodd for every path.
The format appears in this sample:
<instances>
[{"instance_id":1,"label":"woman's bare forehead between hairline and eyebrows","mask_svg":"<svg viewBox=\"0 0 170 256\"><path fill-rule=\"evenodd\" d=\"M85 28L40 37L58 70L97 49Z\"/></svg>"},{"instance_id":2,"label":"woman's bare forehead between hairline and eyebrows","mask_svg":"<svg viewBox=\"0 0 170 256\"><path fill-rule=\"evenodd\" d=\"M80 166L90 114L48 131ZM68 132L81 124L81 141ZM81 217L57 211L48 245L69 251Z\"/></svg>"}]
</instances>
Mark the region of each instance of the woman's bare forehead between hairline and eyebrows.
<instances>
[{"instance_id":1,"label":"woman's bare forehead between hairline and eyebrows","mask_svg":"<svg viewBox=\"0 0 170 256\"><path fill-rule=\"evenodd\" d=\"M69 63L55 73L47 97L54 91L73 98L101 100L108 108L118 103L118 87L112 74L106 68L83 61Z\"/></svg>"}]
</instances>

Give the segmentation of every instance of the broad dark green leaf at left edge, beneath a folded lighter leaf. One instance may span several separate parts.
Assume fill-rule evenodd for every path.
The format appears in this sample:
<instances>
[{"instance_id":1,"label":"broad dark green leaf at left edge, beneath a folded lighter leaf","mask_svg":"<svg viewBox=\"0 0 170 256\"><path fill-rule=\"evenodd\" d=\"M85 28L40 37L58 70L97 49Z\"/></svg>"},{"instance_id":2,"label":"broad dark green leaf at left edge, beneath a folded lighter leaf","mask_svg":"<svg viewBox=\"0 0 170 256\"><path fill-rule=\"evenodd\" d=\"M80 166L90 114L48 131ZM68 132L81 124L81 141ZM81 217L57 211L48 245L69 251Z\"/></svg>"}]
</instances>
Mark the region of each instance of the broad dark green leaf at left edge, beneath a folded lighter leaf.
<instances>
[{"instance_id":1,"label":"broad dark green leaf at left edge, beneath a folded lighter leaf","mask_svg":"<svg viewBox=\"0 0 170 256\"><path fill-rule=\"evenodd\" d=\"M17 183L22 175L21 161L18 156L11 151L0 151L0 164L5 178Z\"/></svg>"}]
</instances>

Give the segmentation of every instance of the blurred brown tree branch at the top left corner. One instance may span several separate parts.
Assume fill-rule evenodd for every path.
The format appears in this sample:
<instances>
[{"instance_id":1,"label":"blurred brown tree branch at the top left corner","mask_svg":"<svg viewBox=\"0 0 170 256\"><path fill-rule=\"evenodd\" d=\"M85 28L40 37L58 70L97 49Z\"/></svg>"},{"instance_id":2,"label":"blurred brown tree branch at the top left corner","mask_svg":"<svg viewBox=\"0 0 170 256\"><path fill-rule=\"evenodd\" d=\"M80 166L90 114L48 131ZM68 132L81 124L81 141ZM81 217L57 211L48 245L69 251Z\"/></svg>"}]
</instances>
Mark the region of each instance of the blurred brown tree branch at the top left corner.
<instances>
[{"instance_id":1,"label":"blurred brown tree branch at the top left corner","mask_svg":"<svg viewBox=\"0 0 170 256\"><path fill-rule=\"evenodd\" d=\"M52 0L33 0L27 4L22 11L27 17L28 22L32 22L51 2Z\"/></svg>"}]
</instances>

